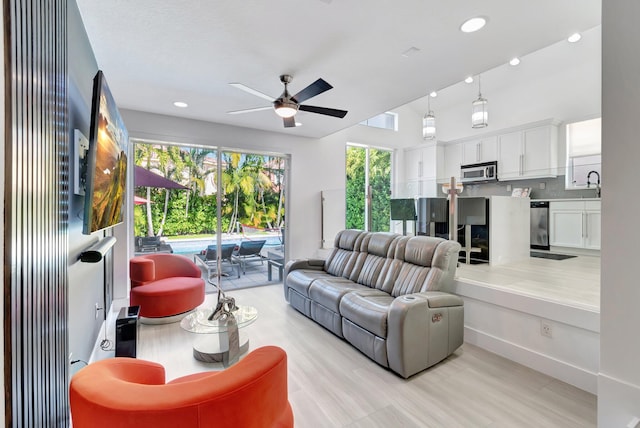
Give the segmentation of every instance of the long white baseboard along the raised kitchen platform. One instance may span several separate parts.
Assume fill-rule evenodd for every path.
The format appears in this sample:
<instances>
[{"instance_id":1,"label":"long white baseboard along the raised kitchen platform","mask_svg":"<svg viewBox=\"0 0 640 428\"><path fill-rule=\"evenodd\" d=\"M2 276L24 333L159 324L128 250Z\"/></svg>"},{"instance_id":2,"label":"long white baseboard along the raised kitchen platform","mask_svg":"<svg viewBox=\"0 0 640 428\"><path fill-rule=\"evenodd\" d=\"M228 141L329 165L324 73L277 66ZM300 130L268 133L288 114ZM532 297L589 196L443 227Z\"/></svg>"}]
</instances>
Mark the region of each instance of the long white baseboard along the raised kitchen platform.
<instances>
[{"instance_id":1,"label":"long white baseboard along the raised kitchen platform","mask_svg":"<svg viewBox=\"0 0 640 428\"><path fill-rule=\"evenodd\" d=\"M597 394L598 374L551 358L521 345L465 326L464 341L554 377L584 391Z\"/></svg>"}]
</instances>

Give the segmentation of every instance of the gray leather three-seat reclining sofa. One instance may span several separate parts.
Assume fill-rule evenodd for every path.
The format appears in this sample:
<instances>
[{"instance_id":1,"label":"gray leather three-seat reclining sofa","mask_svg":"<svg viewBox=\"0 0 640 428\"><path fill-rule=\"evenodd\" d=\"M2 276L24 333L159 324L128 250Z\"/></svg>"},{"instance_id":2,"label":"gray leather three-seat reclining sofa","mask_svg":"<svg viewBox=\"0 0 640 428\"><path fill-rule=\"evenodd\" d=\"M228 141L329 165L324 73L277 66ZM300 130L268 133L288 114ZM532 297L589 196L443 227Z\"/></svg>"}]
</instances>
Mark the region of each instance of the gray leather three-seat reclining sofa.
<instances>
[{"instance_id":1,"label":"gray leather three-seat reclining sofa","mask_svg":"<svg viewBox=\"0 0 640 428\"><path fill-rule=\"evenodd\" d=\"M326 260L286 265L285 298L407 378L462 345L462 299L437 291L453 280L459 251L441 238L343 230Z\"/></svg>"}]
</instances>

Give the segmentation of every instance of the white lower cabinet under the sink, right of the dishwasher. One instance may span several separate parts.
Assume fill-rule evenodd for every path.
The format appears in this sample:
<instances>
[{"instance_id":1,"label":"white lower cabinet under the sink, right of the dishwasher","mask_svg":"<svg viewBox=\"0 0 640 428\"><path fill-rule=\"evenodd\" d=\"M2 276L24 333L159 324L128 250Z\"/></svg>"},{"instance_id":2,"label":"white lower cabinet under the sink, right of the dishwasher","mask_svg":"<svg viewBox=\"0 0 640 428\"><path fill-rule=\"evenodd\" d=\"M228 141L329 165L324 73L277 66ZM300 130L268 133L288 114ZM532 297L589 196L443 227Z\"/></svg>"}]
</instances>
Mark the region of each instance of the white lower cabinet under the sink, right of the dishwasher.
<instances>
[{"instance_id":1,"label":"white lower cabinet under the sink, right of the dishwasher","mask_svg":"<svg viewBox=\"0 0 640 428\"><path fill-rule=\"evenodd\" d=\"M549 244L600 249L600 201L550 201Z\"/></svg>"}]
</instances>

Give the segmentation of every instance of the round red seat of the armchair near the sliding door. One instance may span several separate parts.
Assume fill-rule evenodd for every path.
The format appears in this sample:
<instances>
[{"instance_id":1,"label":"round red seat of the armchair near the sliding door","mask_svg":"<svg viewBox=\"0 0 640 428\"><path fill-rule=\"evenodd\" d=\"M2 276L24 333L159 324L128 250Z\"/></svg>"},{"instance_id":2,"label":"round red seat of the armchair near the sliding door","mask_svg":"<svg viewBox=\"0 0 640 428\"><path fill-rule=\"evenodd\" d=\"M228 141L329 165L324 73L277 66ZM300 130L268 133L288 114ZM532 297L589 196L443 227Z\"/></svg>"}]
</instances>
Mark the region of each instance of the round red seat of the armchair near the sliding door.
<instances>
[{"instance_id":1,"label":"round red seat of the armchair near the sliding door","mask_svg":"<svg viewBox=\"0 0 640 428\"><path fill-rule=\"evenodd\" d=\"M131 306L140 306L140 316L160 318L190 311L204 302L202 278L177 276L133 287Z\"/></svg>"}]
</instances>

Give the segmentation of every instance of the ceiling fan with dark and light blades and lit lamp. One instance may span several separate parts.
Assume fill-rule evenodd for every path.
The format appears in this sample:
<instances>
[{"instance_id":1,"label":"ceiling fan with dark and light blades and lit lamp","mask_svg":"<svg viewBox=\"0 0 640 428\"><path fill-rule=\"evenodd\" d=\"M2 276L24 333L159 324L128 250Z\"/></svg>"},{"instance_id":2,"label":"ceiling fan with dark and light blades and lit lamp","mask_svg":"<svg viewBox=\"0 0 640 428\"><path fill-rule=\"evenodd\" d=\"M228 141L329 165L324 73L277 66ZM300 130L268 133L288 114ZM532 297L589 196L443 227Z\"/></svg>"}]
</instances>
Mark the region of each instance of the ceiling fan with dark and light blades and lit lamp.
<instances>
[{"instance_id":1,"label":"ceiling fan with dark and light blades and lit lamp","mask_svg":"<svg viewBox=\"0 0 640 428\"><path fill-rule=\"evenodd\" d=\"M306 88L304 88L303 90L295 94L294 96L291 96L287 89L287 85L291 83L291 80L293 80L293 77L291 77L288 74L283 74L282 76L280 76L280 81L284 84L284 91L278 98L270 97L269 95L263 94L260 91L256 91L255 89L249 88L248 86L245 86L242 83L230 83L230 85L235 88L241 89L245 92L256 95L260 98L264 98L265 100L271 101L272 105L250 108L245 110L234 110L234 111L229 111L227 113L242 114L242 113L250 113L250 112L260 111L260 110L268 110L270 108L273 108L276 114L282 117L285 128L293 128L296 126L296 121L294 119L294 116L296 115L298 110L308 111L310 113L324 114L327 116L333 116L333 117L339 117L339 118L343 118L347 114L346 110L338 110L334 108L316 107L316 106L301 104L302 102L308 100L309 98L315 97L316 95L320 95L321 93L326 92L329 89L333 88L333 86L328 84L323 79L316 80L315 82L313 82L312 84L310 84L309 86L307 86Z\"/></svg>"}]
</instances>

